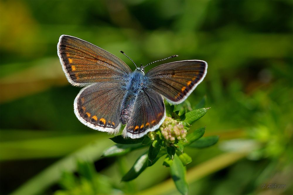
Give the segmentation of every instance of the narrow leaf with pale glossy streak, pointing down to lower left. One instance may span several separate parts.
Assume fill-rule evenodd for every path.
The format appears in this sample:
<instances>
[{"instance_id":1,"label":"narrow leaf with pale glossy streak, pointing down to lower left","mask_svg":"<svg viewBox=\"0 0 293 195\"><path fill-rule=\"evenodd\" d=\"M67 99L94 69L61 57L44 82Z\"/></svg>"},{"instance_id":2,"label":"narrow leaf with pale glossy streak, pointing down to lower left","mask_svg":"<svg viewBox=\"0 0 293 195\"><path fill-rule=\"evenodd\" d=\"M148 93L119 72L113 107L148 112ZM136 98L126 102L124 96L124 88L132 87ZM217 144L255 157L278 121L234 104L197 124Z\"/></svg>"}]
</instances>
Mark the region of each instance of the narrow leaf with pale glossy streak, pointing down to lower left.
<instances>
[{"instance_id":1,"label":"narrow leaf with pale glossy streak, pointing down to lower left","mask_svg":"<svg viewBox=\"0 0 293 195\"><path fill-rule=\"evenodd\" d=\"M147 167L149 164L148 154L145 152L140 156L132 166L132 168L122 177L122 181L130 181L137 178Z\"/></svg>"}]
</instances>

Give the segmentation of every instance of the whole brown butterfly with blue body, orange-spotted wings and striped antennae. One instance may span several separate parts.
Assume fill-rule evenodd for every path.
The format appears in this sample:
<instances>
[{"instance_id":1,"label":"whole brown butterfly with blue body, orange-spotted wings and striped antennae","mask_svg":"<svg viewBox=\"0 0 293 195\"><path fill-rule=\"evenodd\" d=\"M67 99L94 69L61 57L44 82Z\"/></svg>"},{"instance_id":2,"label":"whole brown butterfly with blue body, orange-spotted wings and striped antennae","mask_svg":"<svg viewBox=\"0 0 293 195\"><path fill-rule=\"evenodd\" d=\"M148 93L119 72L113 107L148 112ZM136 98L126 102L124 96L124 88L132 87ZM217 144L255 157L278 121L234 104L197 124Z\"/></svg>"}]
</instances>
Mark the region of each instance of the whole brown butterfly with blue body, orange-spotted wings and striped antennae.
<instances>
[{"instance_id":1,"label":"whole brown butterfly with blue body, orange-spotted wings and striped antennae","mask_svg":"<svg viewBox=\"0 0 293 195\"><path fill-rule=\"evenodd\" d=\"M108 51L68 35L60 36L57 53L68 82L84 87L74 100L78 120L110 134L126 124L122 135L132 139L160 127L166 118L164 98L183 102L207 74L207 63L201 60L166 63L145 73L147 65L137 67L130 58L137 67L132 72Z\"/></svg>"}]
</instances>

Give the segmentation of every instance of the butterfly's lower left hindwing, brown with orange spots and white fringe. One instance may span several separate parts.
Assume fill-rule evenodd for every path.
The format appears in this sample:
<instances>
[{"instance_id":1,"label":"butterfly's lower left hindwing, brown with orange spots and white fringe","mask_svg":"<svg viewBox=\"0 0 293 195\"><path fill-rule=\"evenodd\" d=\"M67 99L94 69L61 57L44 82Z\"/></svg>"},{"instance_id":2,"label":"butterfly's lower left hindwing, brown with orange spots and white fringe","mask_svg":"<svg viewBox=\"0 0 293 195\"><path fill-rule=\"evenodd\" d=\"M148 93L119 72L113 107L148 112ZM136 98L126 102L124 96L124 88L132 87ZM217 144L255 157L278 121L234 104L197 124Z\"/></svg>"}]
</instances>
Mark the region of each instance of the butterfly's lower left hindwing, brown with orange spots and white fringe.
<instances>
[{"instance_id":1,"label":"butterfly's lower left hindwing, brown with orange spots and white fringe","mask_svg":"<svg viewBox=\"0 0 293 195\"><path fill-rule=\"evenodd\" d=\"M125 94L117 82L91 84L81 89L74 100L74 113L86 126L108 133L120 130L121 102Z\"/></svg>"}]
</instances>

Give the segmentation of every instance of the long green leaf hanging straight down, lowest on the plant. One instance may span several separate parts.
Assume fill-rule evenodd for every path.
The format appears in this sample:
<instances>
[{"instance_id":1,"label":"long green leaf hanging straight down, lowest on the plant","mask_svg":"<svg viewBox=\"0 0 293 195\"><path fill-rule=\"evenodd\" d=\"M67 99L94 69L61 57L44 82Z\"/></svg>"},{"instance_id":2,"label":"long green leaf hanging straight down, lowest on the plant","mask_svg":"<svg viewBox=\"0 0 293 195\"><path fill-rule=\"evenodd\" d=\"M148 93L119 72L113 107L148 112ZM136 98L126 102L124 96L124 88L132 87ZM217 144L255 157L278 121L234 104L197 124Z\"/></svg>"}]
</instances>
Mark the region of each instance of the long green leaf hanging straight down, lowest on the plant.
<instances>
[{"instance_id":1,"label":"long green leaf hanging straight down, lowest on the plant","mask_svg":"<svg viewBox=\"0 0 293 195\"><path fill-rule=\"evenodd\" d=\"M180 161L180 158L177 155L174 156L173 164L170 168L170 171L171 171L171 177L178 191L183 195L187 195L188 184L185 179L186 171L185 171L185 167Z\"/></svg>"}]
</instances>

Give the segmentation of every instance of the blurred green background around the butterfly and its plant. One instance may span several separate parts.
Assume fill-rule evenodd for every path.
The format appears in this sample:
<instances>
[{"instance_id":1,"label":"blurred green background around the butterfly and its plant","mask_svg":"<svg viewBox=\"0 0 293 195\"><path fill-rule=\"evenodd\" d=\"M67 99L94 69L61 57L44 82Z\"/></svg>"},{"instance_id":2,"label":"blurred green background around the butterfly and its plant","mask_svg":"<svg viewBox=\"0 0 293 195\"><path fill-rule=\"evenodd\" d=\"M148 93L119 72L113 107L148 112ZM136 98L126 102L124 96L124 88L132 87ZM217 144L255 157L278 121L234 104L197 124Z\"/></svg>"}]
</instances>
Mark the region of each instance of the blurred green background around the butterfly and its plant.
<instances>
[{"instance_id":1,"label":"blurred green background around the butterfly and its plant","mask_svg":"<svg viewBox=\"0 0 293 195\"><path fill-rule=\"evenodd\" d=\"M0 1L0 193L179 194L162 161L120 182L142 151L100 157L113 142L74 115L80 89L56 48L68 34L132 70L120 50L137 64L174 54L166 62L207 61L183 105L205 96L211 109L192 128L220 139L188 151L189 194L292 194L292 2Z\"/></svg>"}]
</instances>

